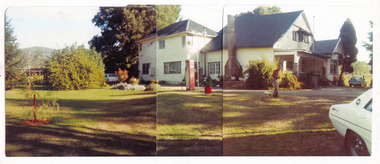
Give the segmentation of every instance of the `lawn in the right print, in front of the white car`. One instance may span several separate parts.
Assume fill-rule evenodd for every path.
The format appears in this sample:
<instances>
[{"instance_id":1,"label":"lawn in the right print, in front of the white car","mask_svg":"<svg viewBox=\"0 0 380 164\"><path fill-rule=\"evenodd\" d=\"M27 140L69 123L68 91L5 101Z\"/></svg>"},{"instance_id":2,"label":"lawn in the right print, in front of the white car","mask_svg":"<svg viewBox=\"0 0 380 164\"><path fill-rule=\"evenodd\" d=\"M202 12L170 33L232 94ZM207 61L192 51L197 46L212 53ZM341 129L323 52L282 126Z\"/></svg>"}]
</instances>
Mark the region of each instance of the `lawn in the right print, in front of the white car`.
<instances>
[{"instance_id":1,"label":"lawn in the right print, in front of the white car","mask_svg":"<svg viewBox=\"0 0 380 164\"><path fill-rule=\"evenodd\" d=\"M337 96L223 95L223 153L246 156L346 155L328 118Z\"/></svg>"}]
</instances>

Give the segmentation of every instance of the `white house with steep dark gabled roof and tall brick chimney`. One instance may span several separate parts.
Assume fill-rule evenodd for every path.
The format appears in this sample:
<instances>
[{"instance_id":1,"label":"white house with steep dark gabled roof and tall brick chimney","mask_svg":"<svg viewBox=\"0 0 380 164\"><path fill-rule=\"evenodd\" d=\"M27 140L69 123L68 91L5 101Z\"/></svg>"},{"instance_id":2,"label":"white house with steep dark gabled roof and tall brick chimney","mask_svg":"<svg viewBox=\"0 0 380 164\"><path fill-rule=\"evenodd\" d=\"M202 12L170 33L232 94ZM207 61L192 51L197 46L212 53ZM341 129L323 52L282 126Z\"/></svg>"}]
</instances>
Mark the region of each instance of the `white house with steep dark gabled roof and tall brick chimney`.
<instances>
[{"instance_id":1,"label":"white house with steep dark gabled roof and tall brick chimney","mask_svg":"<svg viewBox=\"0 0 380 164\"><path fill-rule=\"evenodd\" d=\"M284 70L301 76L314 72L333 80L337 75L338 55L343 55L339 40L315 41L303 11L271 15L229 16L227 26L203 49L206 74L212 78L242 77L249 61L279 61ZM207 63L219 63L219 71ZM327 71L328 70L328 71Z\"/></svg>"}]
</instances>

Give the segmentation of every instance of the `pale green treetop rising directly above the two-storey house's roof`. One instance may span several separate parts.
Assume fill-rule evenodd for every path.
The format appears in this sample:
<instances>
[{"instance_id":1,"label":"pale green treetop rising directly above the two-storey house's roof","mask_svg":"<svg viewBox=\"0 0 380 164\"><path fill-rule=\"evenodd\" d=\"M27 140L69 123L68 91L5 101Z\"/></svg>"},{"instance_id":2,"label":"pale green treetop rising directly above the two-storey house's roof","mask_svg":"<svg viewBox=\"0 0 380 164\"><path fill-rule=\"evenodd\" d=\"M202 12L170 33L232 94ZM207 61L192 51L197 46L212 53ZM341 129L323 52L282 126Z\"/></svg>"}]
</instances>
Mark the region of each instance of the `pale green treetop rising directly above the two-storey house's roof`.
<instances>
[{"instance_id":1,"label":"pale green treetop rising directly above the two-storey house's roof","mask_svg":"<svg viewBox=\"0 0 380 164\"><path fill-rule=\"evenodd\" d=\"M155 8L157 9L158 30L181 19L179 18L179 13L181 12L180 5L156 5Z\"/></svg>"}]
</instances>

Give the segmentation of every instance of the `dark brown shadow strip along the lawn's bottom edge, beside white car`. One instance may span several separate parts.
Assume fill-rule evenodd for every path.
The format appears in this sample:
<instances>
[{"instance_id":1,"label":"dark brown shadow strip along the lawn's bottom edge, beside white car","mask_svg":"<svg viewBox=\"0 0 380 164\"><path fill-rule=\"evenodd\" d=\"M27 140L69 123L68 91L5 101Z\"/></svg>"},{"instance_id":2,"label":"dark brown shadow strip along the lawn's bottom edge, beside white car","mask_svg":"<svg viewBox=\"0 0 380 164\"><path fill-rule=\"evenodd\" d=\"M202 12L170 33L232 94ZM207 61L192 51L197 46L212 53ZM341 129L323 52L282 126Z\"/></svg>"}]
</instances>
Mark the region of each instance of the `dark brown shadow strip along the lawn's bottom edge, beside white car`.
<instances>
[{"instance_id":1,"label":"dark brown shadow strip along the lawn's bottom edge, beside white car","mask_svg":"<svg viewBox=\"0 0 380 164\"><path fill-rule=\"evenodd\" d=\"M336 131L223 138L225 156L348 156Z\"/></svg>"}]
</instances>

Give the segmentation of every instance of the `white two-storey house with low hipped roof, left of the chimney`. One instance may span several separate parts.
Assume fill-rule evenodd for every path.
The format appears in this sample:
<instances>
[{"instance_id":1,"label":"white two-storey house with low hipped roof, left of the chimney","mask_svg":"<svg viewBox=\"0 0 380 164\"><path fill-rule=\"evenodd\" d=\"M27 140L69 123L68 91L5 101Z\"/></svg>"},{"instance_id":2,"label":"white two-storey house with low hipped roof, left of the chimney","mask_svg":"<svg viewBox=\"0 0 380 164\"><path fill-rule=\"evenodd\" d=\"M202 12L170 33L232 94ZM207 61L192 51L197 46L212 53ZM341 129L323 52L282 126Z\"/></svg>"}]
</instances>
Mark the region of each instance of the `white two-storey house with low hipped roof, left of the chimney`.
<instances>
[{"instance_id":1,"label":"white two-storey house with low hipped roof, left of the chimney","mask_svg":"<svg viewBox=\"0 0 380 164\"><path fill-rule=\"evenodd\" d=\"M184 20L139 39L139 78L179 84L185 77L186 60L194 60L195 70L200 66L200 76L203 75L200 50L214 37L215 31Z\"/></svg>"}]
</instances>

